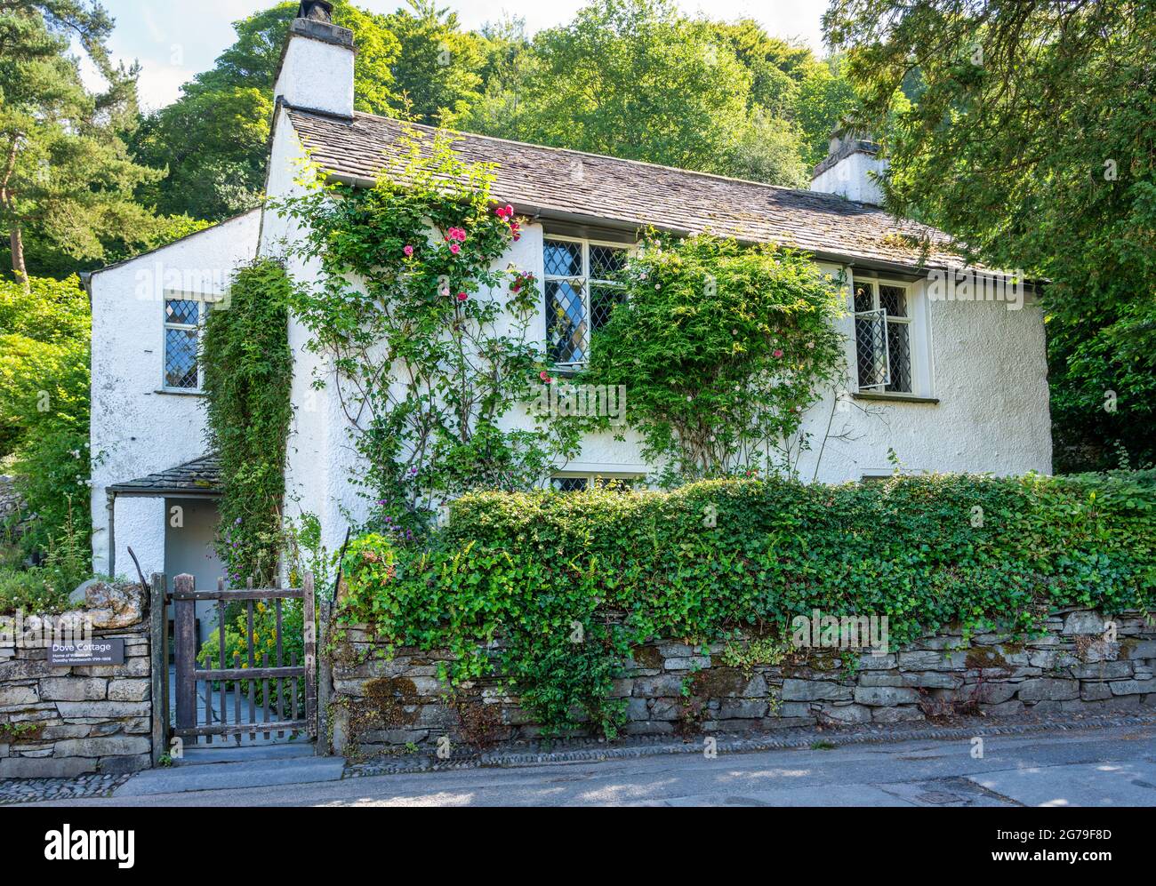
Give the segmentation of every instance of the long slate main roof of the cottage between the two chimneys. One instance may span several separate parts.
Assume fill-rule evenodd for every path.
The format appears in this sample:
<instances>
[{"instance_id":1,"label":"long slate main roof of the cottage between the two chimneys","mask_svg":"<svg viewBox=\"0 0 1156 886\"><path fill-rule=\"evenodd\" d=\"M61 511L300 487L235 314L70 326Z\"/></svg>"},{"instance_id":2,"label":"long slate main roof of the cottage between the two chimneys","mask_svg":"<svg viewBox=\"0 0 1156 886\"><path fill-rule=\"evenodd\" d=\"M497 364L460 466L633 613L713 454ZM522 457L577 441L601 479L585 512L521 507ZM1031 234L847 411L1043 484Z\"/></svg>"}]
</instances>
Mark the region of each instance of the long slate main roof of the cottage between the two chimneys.
<instances>
[{"instance_id":1,"label":"long slate main roof of the cottage between the two chimneys","mask_svg":"<svg viewBox=\"0 0 1156 886\"><path fill-rule=\"evenodd\" d=\"M332 174L368 184L387 158L397 162L397 150L391 151L401 132L397 120L365 113L339 118L291 106L287 111L312 158ZM526 215L654 225L677 233L710 230L795 246L816 258L883 266L965 265L949 252L950 238L942 231L833 194L466 133L454 150L465 161L498 163L495 198ZM924 244L929 246L926 253Z\"/></svg>"}]
</instances>

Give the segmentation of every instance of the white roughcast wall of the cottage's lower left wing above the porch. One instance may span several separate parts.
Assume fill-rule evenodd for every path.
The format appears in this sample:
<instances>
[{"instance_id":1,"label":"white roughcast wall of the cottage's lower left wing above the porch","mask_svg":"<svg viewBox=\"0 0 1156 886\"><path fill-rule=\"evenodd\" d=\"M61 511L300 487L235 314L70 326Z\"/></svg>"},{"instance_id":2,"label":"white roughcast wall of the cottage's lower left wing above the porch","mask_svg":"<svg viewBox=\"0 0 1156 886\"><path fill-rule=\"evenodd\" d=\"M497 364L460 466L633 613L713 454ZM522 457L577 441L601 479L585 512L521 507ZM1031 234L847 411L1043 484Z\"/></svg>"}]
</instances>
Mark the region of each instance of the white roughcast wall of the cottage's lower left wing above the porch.
<instances>
[{"instance_id":1,"label":"white roughcast wall of the cottage's lower left wing above the porch","mask_svg":"<svg viewBox=\"0 0 1156 886\"><path fill-rule=\"evenodd\" d=\"M164 372L164 293L200 286L220 295L234 269L253 258L260 211L208 228L132 261L92 275L92 559L106 572L106 487L176 467L206 453L202 397L161 390ZM128 574L128 544L146 574L164 568L161 522L147 527L160 499L118 498L114 535L117 572ZM121 516L121 511L124 515ZM146 545L146 537L149 539Z\"/></svg>"}]
</instances>

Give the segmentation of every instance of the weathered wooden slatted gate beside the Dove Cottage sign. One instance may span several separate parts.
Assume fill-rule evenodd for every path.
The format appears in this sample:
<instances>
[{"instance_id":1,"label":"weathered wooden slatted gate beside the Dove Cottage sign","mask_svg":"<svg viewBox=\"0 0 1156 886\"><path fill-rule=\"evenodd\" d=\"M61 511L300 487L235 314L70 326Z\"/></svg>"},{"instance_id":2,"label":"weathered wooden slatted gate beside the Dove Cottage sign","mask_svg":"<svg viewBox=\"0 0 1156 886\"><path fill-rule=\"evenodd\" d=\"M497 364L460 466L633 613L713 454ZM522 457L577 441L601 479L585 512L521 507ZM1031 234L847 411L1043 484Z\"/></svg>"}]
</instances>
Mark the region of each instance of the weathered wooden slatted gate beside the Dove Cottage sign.
<instances>
[{"instance_id":1,"label":"weathered wooden slatted gate beside the Dove Cottage sign","mask_svg":"<svg viewBox=\"0 0 1156 886\"><path fill-rule=\"evenodd\" d=\"M186 744L212 744L214 736L237 744L259 736L317 737L313 576L301 588L251 585L225 589L217 582L216 590L197 590L192 575L176 578L172 735ZM205 601L215 604L215 623L198 653L197 603Z\"/></svg>"}]
</instances>

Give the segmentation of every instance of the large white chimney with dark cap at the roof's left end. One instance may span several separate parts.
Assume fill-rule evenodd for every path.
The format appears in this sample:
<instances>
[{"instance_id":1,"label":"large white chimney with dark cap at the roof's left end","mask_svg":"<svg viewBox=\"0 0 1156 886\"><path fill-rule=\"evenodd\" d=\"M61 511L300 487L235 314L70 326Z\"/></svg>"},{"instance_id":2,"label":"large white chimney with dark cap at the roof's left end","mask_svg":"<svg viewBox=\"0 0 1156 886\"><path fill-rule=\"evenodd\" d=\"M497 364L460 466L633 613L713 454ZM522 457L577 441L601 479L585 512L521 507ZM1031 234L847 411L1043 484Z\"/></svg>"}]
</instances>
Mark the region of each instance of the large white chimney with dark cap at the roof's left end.
<instances>
[{"instance_id":1,"label":"large white chimney with dark cap at the roof's left end","mask_svg":"<svg viewBox=\"0 0 1156 886\"><path fill-rule=\"evenodd\" d=\"M333 3L302 0L273 96L294 107L354 116L354 32L333 24Z\"/></svg>"}]
</instances>

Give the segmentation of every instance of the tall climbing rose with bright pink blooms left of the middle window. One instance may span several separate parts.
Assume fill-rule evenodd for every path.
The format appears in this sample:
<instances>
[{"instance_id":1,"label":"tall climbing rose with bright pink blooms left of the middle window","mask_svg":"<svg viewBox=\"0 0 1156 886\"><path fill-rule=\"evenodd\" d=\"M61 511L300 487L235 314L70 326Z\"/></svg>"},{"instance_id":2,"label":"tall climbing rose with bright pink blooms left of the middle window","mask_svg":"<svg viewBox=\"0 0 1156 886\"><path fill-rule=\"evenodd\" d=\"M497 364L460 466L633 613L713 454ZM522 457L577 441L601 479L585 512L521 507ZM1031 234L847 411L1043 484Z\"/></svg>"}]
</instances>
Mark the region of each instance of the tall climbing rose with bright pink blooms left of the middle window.
<instances>
[{"instance_id":1,"label":"tall climbing rose with bright pink blooms left of the middle window","mask_svg":"<svg viewBox=\"0 0 1156 886\"><path fill-rule=\"evenodd\" d=\"M462 163L444 132L407 132L397 148L394 178L318 184L277 210L307 231L298 255L323 267L296 305L333 370L313 382L340 396L379 527L400 520L409 537L439 500L539 482L578 431L502 427L544 367L527 335L533 275L492 267L520 233L490 199L491 166Z\"/></svg>"}]
</instances>

